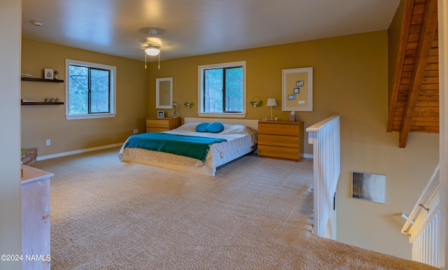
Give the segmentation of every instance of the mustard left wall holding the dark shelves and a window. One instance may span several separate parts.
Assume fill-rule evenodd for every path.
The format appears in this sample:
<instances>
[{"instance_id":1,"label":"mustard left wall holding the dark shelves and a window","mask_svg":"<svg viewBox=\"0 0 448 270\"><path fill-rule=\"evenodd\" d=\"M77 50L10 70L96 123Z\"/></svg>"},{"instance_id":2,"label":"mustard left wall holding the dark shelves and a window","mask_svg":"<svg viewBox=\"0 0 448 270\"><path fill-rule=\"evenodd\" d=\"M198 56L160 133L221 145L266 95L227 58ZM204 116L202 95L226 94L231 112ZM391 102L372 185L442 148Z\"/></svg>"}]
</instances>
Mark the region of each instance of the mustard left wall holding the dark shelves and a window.
<instances>
[{"instance_id":1,"label":"mustard left wall holding the dark shelves and a window","mask_svg":"<svg viewBox=\"0 0 448 270\"><path fill-rule=\"evenodd\" d=\"M38 155L82 150L123 143L133 129L146 130L148 70L144 63L24 38L22 72L42 78L43 69L55 69L65 79L65 59L117 67L117 115L115 118L66 120L62 106L22 106L22 147L38 148ZM22 99L43 101L59 97L66 101L65 83L22 82ZM45 140L51 145L46 146Z\"/></svg>"}]
</instances>

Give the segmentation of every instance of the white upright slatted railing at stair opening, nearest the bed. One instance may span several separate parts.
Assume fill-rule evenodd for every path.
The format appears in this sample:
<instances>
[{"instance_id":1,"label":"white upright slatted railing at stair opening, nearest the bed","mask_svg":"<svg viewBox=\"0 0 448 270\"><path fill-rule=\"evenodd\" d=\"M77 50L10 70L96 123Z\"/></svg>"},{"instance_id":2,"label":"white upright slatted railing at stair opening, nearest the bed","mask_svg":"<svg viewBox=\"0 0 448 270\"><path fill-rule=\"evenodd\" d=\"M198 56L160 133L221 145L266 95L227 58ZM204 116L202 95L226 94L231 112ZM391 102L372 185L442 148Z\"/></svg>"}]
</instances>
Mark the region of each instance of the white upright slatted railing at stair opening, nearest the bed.
<instances>
[{"instance_id":1,"label":"white upright slatted railing at stair opening, nearest the bed","mask_svg":"<svg viewBox=\"0 0 448 270\"><path fill-rule=\"evenodd\" d=\"M340 171L340 116L333 115L318 122L308 127L307 132L308 143L313 145L313 230L318 236L328 236L325 232L334 207L333 199Z\"/></svg>"}]
</instances>

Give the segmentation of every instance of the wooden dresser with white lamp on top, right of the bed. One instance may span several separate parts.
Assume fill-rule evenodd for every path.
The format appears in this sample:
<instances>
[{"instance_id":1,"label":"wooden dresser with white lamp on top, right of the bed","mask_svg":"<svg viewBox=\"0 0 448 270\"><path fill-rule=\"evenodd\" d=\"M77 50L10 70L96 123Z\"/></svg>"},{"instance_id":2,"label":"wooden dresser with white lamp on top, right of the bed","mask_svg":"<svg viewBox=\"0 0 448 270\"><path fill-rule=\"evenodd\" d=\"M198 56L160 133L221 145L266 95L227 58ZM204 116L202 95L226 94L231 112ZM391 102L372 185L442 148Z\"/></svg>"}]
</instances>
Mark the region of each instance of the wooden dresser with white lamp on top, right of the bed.
<instances>
[{"instance_id":1,"label":"wooden dresser with white lamp on top, right of the bed","mask_svg":"<svg viewBox=\"0 0 448 270\"><path fill-rule=\"evenodd\" d=\"M303 132L302 121L258 121L258 156L300 162Z\"/></svg>"}]
</instances>

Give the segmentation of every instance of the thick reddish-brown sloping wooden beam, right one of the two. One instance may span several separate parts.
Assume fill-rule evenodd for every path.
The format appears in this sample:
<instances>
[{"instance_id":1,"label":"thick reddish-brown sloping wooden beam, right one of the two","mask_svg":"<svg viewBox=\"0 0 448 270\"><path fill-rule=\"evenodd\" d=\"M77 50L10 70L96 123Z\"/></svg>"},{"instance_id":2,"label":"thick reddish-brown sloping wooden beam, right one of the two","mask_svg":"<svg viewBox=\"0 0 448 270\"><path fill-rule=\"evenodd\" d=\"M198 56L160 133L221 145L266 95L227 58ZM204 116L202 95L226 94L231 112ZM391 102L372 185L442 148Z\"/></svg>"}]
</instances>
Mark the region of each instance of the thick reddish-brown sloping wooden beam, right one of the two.
<instances>
[{"instance_id":1,"label":"thick reddish-brown sloping wooden beam, right one of the two","mask_svg":"<svg viewBox=\"0 0 448 270\"><path fill-rule=\"evenodd\" d=\"M427 0L423 23L421 25L419 45L416 48L416 57L414 63L414 73L411 78L409 94L407 96L405 112L400 127L400 148L405 148L407 137L412 125L415 104L419 99L423 75L428 62L431 43L433 43L435 31L437 29L437 0Z\"/></svg>"}]
</instances>

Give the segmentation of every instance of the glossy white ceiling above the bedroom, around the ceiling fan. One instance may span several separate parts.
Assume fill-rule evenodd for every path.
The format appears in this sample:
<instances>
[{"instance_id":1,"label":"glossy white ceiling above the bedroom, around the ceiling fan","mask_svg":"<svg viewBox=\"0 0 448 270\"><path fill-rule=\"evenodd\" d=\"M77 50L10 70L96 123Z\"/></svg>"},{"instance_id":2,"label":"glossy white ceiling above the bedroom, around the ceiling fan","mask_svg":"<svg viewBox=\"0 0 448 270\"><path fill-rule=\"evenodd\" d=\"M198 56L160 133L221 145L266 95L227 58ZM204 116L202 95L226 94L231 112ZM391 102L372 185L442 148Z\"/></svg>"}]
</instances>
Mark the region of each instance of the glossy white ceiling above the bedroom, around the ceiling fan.
<instances>
[{"instance_id":1,"label":"glossy white ceiling above the bedroom, around the ceiling fan","mask_svg":"<svg viewBox=\"0 0 448 270\"><path fill-rule=\"evenodd\" d=\"M22 36L141 61L151 41L173 59L388 29L399 2L22 0Z\"/></svg>"}]
</instances>

